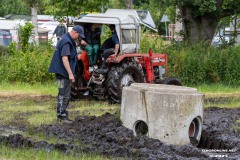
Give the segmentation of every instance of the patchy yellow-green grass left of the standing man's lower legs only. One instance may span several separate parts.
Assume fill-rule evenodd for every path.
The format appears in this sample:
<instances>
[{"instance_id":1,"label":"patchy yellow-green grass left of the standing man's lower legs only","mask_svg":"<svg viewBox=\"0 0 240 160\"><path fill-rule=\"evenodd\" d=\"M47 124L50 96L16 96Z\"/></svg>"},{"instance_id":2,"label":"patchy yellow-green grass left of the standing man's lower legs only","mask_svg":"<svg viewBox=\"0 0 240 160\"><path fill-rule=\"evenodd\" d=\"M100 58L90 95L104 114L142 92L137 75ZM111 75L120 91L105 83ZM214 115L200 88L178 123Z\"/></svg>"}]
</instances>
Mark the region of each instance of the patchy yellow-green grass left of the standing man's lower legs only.
<instances>
[{"instance_id":1,"label":"patchy yellow-green grass left of the standing man's lower legs only","mask_svg":"<svg viewBox=\"0 0 240 160\"><path fill-rule=\"evenodd\" d=\"M31 125L50 124L55 118L52 103L34 102L34 100L8 100L0 103L4 114L0 115L2 124L12 125L24 122ZM43 118L44 117L44 118Z\"/></svg>"}]
</instances>

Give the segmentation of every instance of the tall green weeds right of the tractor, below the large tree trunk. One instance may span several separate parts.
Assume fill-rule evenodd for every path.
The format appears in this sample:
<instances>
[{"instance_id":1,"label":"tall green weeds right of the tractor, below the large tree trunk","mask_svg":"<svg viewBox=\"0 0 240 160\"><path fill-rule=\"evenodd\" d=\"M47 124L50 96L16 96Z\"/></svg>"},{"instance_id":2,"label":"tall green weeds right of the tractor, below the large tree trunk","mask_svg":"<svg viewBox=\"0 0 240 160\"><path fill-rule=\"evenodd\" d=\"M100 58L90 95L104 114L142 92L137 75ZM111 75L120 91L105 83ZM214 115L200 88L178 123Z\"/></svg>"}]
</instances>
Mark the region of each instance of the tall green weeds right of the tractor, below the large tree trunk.
<instances>
[{"instance_id":1,"label":"tall green weeds right of the tractor, below the large tree trunk","mask_svg":"<svg viewBox=\"0 0 240 160\"><path fill-rule=\"evenodd\" d=\"M183 84L240 84L240 47L214 48L206 44L173 45L169 51L169 75Z\"/></svg>"}]
</instances>

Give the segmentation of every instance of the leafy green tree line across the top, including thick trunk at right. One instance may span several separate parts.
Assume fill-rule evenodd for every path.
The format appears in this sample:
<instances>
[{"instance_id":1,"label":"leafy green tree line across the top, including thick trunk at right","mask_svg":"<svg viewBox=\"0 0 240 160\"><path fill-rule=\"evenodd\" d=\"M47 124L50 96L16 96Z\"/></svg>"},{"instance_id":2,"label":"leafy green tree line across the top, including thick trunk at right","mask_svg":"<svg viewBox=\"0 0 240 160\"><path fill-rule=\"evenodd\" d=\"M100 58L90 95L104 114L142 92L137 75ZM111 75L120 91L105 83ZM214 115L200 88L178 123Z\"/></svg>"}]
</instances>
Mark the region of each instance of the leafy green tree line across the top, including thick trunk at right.
<instances>
[{"instance_id":1,"label":"leafy green tree line across the top, including thick trunk at right","mask_svg":"<svg viewBox=\"0 0 240 160\"><path fill-rule=\"evenodd\" d=\"M174 23L183 24L185 41L211 43L219 26L230 23L240 14L239 0L1 0L0 16L7 14L50 14L56 18L79 16L82 12L103 12L108 8L149 10L164 33L160 22L167 14ZM225 18L225 19L224 19ZM227 19L227 20L226 20ZM36 19L35 19L36 21ZM36 22L35 22L36 23ZM34 24L34 23L33 23Z\"/></svg>"}]
</instances>

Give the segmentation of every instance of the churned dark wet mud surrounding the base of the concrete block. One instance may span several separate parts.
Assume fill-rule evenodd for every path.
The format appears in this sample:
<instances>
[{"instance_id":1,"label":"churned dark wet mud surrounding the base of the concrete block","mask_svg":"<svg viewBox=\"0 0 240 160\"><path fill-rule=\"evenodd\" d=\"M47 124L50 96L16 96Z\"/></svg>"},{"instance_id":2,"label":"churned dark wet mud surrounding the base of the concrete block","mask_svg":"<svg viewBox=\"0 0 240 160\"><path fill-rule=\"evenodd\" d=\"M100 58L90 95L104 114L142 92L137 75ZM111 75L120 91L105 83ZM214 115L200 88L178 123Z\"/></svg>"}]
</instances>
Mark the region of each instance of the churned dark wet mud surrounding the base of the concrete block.
<instances>
[{"instance_id":1,"label":"churned dark wet mud surrounding the base of the concrete block","mask_svg":"<svg viewBox=\"0 0 240 160\"><path fill-rule=\"evenodd\" d=\"M60 150L76 155L97 153L113 159L238 159L240 123L236 120L239 119L240 107L205 109L202 138L197 147L191 144L177 147L144 136L134 137L133 132L122 126L117 116L110 113L100 117L80 116L71 124L56 123L32 129L33 134L42 132L46 137L56 137L66 143L33 141L21 134L1 135L0 142L11 147ZM9 126L0 127L0 130L6 131L13 129ZM26 129L26 126L22 128Z\"/></svg>"}]
</instances>

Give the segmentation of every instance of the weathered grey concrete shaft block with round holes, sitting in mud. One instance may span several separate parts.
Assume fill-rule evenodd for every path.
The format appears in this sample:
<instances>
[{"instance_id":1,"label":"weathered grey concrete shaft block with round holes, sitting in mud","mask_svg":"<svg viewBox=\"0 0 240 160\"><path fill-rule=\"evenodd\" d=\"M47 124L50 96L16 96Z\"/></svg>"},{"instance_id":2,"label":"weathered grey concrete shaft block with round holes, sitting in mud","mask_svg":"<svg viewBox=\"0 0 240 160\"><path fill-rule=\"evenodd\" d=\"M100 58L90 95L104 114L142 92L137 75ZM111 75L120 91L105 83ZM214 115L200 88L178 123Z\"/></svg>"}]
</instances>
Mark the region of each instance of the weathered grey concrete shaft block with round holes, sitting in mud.
<instances>
[{"instance_id":1,"label":"weathered grey concrete shaft block with round holes, sitting in mud","mask_svg":"<svg viewBox=\"0 0 240 160\"><path fill-rule=\"evenodd\" d=\"M167 144L197 145L203 124L204 95L183 86L133 83L124 87L121 121L135 136Z\"/></svg>"}]
</instances>

